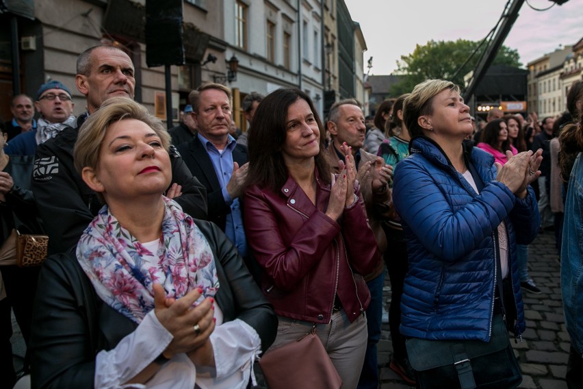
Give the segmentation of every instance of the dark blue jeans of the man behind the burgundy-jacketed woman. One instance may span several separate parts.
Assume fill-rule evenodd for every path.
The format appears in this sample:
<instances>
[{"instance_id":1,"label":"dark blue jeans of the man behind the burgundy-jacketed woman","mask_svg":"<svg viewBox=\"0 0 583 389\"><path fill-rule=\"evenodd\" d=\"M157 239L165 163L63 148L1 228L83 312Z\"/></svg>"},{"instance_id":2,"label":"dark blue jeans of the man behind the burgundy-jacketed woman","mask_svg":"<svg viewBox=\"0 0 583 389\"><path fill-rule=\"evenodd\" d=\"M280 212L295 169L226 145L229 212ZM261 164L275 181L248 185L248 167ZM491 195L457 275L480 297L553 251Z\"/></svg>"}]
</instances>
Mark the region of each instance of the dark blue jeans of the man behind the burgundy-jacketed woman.
<instances>
[{"instance_id":1,"label":"dark blue jeans of the man behind the burgundy-jacketed woman","mask_svg":"<svg viewBox=\"0 0 583 389\"><path fill-rule=\"evenodd\" d=\"M378 388L378 355L376 345L378 344L378 340L380 340L384 285L385 272L367 282L368 289L370 290L370 304L366 310L368 338L365 360L359 379L359 389Z\"/></svg>"}]
</instances>

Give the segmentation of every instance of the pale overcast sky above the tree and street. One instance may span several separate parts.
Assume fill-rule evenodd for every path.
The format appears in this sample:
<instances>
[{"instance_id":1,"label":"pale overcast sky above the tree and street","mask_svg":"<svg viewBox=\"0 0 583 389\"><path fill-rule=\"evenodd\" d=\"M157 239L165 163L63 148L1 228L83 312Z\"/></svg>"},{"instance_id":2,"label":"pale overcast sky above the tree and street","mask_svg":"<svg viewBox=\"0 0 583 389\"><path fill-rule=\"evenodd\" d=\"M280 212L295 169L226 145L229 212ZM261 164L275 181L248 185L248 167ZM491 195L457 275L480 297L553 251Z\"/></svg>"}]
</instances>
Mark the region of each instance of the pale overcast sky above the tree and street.
<instances>
[{"instance_id":1,"label":"pale overcast sky above the tree and street","mask_svg":"<svg viewBox=\"0 0 583 389\"><path fill-rule=\"evenodd\" d=\"M372 56L371 75L396 70L401 55L412 53L428 40L482 40L494 27L507 0L344 0L352 20L361 25L368 50L365 73ZM527 0L534 8L552 1ZM517 49L524 66L559 45L583 38L583 0L569 0L544 12L525 1L504 45Z\"/></svg>"}]
</instances>

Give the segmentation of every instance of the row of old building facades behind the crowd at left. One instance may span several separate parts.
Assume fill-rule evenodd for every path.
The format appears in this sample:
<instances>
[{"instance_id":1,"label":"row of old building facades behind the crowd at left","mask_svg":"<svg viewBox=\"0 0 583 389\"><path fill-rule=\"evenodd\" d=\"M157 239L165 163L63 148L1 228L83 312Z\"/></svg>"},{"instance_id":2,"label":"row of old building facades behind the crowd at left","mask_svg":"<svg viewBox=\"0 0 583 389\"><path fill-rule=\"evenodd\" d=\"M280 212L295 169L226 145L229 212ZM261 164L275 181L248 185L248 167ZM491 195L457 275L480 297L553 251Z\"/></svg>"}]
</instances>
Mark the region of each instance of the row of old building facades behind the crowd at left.
<instances>
[{"instance_id":1,"label":"row of old building facades behind the crowd at left","mask_svg":"<svg viewBox=\"0 0 583 389\"><path fill-rule=\"evenodd\" d=\"M144 33L147 1L22 0L20 3L28 7L25 12L0 8L0 23L7 27L0 31L3 120L11 116L14 93L34 97L38 86L49 79L70 88L74 113L81 114L86 101L75 88L75 62L83 50L101 44L115 45L128 53L135 65L135 100L165 119L165 67L149 67L147 61L151 54ZM162 5L170 3L177 1ZM207 81L233 90L235 123L242 129L247 123L240 104L253 91L268 94L281 87L301 88L320 114L324 113L326 93L333 96L332 101L361 95L363 86L357 77L362 77L356 69L362 69L365 42L343 0L178 3L183 7L185 62L170 64L174 121L187 104L188 93Z\"/></svg>"}]
</instances>

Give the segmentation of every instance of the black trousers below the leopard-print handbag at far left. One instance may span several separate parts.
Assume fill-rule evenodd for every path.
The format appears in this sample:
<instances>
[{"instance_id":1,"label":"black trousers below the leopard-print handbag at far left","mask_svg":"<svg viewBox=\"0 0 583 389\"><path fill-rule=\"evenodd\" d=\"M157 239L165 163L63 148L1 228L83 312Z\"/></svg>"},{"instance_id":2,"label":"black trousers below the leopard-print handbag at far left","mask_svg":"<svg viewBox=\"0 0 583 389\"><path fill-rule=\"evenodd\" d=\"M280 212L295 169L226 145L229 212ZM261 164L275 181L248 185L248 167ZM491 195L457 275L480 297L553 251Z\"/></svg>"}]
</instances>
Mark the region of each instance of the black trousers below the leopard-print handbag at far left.
<instances>
[{"instance_id":1,"label":"black trousers below the leopard-print handbag at far left","mask_svg":"<svg viewBox=\"0 0 583 389\"><path fill-rule=\"evenodd\" d=\"M14 310L14 316L18 327L20 327L26 344L25 371L30 366L29 360L29 340L32 325L32 304L36 294L38 284L38 273L40 266L21 268L16 265L0 266L4 287L6 288L6 299Z\"/></svg>"}]
</instances>

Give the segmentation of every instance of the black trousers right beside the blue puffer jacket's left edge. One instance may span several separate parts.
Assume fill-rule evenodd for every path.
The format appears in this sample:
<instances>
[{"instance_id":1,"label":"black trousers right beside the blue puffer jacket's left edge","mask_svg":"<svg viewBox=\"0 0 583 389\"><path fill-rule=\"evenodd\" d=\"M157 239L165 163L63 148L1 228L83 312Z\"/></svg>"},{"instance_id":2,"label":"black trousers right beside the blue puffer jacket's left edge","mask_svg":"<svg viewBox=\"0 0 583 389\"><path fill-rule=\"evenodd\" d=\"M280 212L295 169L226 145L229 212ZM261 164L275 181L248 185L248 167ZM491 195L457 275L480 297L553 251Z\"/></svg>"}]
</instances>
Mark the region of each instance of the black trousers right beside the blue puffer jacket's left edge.
<instances>
[{"instance_id":1,"label":"black trousers right beside the blue puffer jacket's left edge","mask_svg":"<svg viewBox=\"0 0 583 389\"><path fill-rule=\"evenodd\" d=\"M402 360L407 356L405 338L399 332L401 325L401 297L405 275L409 263L407 262L407 246L403 231L385 228L387 234L388 249L385 252L385 264L391 279L391 306L389 307L389 329L391 329L391 342L393 344L393 357Z\"/></svg>"}]
</instances>

